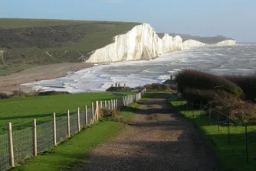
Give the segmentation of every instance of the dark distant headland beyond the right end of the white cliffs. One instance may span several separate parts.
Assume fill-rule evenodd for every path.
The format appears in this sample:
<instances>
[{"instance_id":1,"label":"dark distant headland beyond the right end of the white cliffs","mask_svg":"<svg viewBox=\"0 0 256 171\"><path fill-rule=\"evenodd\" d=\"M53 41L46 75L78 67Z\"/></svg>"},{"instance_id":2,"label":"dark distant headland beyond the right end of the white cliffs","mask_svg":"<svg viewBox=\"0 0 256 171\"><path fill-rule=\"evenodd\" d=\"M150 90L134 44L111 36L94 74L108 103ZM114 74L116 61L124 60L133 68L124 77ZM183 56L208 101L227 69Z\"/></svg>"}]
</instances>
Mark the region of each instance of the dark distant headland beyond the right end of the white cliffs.
<instances>
[{"instance_id":1,"label":"dark distant headland beyond the right end of the white cliffs","mask_svg":"<svg viewBox=\"0 0 256 171\"><path fill-rule=\"evenodd\" d=\"M160 38L162 38L164 36L163 33L158 33L158 35L159 35ZM201 36L191 36L189 34L174 34L174 33L169 33L169 35L170 36L179 35L180 37L182 37L183 42L185 40L192 39L192 40L200 41L204 44L217 44L218 42L221 42L221 41L224 41L224 40L234 40L232 38L225 37L225 36L222 36L222 35L218 35L218 36L215 36L215 37L201 37Z\"/></svg>"}]
</instances>

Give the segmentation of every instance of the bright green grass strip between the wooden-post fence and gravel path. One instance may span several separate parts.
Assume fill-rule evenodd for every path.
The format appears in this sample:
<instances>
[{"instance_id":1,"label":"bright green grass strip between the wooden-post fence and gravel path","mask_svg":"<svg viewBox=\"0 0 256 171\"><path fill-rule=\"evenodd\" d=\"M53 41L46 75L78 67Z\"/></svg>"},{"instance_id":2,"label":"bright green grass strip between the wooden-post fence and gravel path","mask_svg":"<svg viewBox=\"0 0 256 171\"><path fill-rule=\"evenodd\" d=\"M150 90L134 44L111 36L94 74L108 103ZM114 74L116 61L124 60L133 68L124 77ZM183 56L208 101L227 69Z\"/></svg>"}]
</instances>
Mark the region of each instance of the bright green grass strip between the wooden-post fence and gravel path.
<instances>
[{"instance_id":1,"label":"bright green grass strip between the wooden-post fence and gravel path","mask_svg":"<svg viewBox=\"0 0 256 171\"><path fill-rule=\"evenodd\" d=\"M142 98L142 100L146 100L146 98ZM133 120L133 111L138 106L138 103L134 103L130 105L132 108L124 108L121 112L123 119L128 121ZM32 171L36 169L38 171L54 171L72 167L77 162L86 163L90 156L90 149L120 134L120 131L123 131L124 127L126 125L119 122L100 121L93 127L74 135L71 140L67 140L60 146L49 150L49 153L42 153L28 160L25 165L12 170Z\"/></svg>"}]
</instances>

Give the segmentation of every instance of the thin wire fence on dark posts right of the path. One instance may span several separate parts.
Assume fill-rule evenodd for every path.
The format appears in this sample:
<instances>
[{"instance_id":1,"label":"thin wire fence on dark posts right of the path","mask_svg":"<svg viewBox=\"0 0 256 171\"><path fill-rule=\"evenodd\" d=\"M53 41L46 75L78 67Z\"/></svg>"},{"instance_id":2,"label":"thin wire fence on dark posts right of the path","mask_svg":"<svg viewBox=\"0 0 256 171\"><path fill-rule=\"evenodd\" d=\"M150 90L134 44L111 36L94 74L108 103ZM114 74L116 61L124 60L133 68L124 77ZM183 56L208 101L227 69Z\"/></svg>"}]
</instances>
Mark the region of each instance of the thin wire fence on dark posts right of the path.
<instances>
[{"instance_id":1,"label":"thin wire fence on dark posts right of the path","mask_svg":"<svg viewBox=\"0 0 256 171\"><path fill-rule=\"evenodd\" d=\"M245 163L255 160L256 156L256 126L240 123L233 119L231 115L212 108L212 105L196 104L179 100L178 94L173 94L172 98L178 99L176 107L183 111L186 116L203 126L212 126L212 143L227 144L229 150L235 151L235 155ZM218 150L222 147L218 146ZM251 154L250 154L251 152Z\"/></svg>"}]
</instances>

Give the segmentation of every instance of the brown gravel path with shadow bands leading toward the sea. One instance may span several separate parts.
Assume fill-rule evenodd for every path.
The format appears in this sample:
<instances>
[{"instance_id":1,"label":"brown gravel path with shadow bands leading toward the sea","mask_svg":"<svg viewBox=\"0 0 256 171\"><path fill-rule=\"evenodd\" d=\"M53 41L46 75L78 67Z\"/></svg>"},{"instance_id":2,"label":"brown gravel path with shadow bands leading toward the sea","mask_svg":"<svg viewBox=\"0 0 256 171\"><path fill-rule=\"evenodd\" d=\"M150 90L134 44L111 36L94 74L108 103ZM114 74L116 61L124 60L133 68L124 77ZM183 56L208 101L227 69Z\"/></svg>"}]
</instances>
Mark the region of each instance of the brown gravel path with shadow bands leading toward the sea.
<instances>
[{"instance_id":1,"label":"brown gravel path with shadow bands leading toward the sea","mask_svg":"<svg viewBox=\"0 0 256 171\"><path fill-rule=\"evenodd\" d=\"M140 105L135 123L73 170L219 170L191 123L172 113L166 95Z\"/></svg>"}]
</instances>

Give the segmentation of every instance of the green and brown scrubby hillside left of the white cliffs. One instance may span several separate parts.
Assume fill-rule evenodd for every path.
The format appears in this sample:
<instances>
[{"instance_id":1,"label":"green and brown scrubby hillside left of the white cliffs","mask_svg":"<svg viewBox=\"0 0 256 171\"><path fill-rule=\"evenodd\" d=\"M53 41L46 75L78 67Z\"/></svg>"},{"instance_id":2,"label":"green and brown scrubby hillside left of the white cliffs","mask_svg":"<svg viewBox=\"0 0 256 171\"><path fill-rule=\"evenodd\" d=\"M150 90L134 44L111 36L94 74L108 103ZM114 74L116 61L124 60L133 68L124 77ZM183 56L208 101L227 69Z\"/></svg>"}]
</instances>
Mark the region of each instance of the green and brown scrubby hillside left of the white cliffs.
<instances>
[{"instance_id":1,"label":"green and brown scrubby hillside left of the white cliffs","mask_svg":"<svg viewBox=\"0 0 256 171\"><path fill-rule=\"evenodd\" d=\"M0 18L0 76L35 65L82 62L138 24Z\"/></svg>"}]
</instances>

